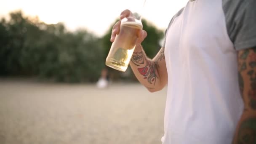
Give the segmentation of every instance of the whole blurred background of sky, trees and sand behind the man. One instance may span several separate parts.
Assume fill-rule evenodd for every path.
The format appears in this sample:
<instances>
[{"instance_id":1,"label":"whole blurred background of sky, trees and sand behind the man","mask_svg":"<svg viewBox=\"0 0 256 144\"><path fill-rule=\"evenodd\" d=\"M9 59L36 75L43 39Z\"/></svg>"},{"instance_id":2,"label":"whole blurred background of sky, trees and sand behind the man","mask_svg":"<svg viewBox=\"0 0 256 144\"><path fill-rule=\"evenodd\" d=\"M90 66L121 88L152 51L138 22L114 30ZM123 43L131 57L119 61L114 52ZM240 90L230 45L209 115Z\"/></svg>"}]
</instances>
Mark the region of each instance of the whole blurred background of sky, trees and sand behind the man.
<instances>
[{"instance_id":1,"label":"whole blurred background of sky, trees and sand behind the man","mask_svg":"<svg viewBox=\"0 0 256 144\"><path fill-rule=\"evenodd\" d=\"M130 68L105 66L112 26L143 2L1 0L0 144L160 144L166 89L149 93ZM186 3L147 0L149 58Z\"/></svg>"}]
</instances>

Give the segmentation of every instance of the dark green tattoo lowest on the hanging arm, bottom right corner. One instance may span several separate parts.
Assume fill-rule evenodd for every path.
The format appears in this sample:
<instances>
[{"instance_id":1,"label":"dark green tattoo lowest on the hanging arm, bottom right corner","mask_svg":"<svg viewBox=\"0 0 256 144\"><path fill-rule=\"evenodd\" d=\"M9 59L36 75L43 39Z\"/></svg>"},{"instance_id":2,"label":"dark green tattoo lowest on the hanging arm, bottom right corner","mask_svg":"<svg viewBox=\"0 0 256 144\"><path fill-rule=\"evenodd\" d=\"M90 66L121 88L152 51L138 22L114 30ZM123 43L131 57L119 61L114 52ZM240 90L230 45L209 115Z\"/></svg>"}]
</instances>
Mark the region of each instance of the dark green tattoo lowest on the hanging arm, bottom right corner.
<instances>
[{"instance_id":1,"label":"dark green tattoo lowest on the hanging arm, bottom right corner","mask_svg":"<svg viewBox=\"0 0 256 144\"><path fill-rule=\"evenodd\" d=\"M249 118L241 123L238 141L234 144L256 144L256 117Z\"/></svg>"}]
</instances>

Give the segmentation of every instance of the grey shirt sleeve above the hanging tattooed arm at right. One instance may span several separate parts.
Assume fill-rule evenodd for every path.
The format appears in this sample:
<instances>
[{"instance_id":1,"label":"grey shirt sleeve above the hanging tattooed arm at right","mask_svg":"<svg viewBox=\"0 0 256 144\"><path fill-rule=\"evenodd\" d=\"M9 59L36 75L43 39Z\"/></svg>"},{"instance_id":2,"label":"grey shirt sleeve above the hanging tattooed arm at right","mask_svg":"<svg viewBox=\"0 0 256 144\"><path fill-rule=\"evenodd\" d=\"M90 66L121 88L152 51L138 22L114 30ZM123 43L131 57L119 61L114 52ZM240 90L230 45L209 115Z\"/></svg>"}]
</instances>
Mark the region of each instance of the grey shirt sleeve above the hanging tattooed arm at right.
<instances>
[{"instance_id":1,"label":"grey shirt sleeve above the hanging tattooed arm at right","mask_svg":"<svg viewBox=\"0 0 256 144\"><path fill-rule=\"evenodd\" d=\"M236 50L256 46L256 0L222 0L227 32Z\"/></svg>"}]
</instances>

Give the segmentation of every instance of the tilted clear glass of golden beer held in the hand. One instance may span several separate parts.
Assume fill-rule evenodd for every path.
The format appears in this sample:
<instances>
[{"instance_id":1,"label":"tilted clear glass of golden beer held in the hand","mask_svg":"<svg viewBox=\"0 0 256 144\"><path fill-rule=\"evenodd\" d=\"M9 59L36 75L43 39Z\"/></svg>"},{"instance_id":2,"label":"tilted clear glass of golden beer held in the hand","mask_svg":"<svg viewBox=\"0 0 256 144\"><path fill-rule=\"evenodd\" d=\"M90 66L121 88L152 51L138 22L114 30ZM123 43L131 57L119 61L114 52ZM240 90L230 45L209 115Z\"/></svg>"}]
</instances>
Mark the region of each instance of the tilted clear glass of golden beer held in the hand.
<instances>
[{"instance_id":1,"label":"tilted clear glass of golden beer held in the hand","mask_svg":"<svg viewBox=\"0 0 256 144\"><path fill-rule=\"evenodd\" d=\"M121 23L120 32L115 37L106 59L108 67L125 72L136 46L140 29L142 29L142 24L135 21Z\"/></svg>"}]
</instances>

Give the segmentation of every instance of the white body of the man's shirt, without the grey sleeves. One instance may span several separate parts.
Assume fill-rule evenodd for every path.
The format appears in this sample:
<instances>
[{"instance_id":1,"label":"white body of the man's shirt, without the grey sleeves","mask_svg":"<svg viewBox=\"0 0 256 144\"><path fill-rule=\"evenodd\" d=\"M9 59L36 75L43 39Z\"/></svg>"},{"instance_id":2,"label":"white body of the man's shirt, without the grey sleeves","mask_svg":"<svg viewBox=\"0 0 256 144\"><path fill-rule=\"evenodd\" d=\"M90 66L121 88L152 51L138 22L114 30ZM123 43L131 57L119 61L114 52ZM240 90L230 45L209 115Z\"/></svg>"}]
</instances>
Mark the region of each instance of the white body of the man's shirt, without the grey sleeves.
<instances>
[{"instance_id":1,"label":"white body of the man's shirt, without the grey sleeves","mask_svg":"<svg viewBox=\"0 0 256 144\"><path fill-rule=\"evenodd\" d=\"M188 2L166 33L163 144L231 144L243 112L221 0Z\"/></svg>"}]
</instances>

